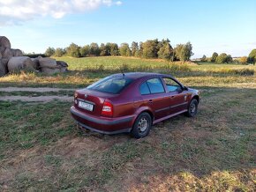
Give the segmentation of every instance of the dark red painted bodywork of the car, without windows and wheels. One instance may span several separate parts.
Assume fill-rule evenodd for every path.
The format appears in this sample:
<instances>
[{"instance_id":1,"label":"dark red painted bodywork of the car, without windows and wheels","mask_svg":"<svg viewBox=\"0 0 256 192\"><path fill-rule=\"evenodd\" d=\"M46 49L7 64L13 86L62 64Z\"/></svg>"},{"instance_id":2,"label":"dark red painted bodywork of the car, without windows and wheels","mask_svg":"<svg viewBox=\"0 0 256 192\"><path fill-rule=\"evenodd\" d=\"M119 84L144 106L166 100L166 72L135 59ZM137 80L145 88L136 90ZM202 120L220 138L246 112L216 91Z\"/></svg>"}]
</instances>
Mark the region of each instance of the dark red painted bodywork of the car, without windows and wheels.
<instances>
[{"instance_id":1,"label":"dark red painted bodywork of the car, without windows and wheels","mask_svg":"<svg viewBox=\"0 0 256 192\"><path fill-rule=\"evenodd\" d=\"M112 75L113 78L132 78L130 85L118 94L98 92L87 88L77 90L75 102L71 107L72 117L81 127L104 134L130 132L139 114L147 112L153 124L187 111L193 97L199 98L197 90L186 88L177 79L157 73L125 73ZM151 78L171 78L180 85L180 89L169 92L162 80L164 92L141 95L139 86ZM79 101L94 105L93 111L79 107ZM113 106L113 116L102 115L104 101Z\"/></svg>"}]
</instances>

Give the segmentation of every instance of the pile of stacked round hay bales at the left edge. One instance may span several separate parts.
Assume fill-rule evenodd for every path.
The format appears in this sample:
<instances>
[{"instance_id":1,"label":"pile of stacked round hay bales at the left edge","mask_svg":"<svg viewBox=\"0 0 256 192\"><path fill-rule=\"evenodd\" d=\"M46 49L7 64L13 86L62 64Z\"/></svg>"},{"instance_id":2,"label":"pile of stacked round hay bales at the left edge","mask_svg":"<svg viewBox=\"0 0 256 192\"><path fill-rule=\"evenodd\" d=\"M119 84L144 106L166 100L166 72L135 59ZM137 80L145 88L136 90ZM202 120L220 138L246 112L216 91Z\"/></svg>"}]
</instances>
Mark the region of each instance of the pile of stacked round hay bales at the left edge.
<instances>
[{"instance_id":1,"label":"pile of stacked round hay bales at the left edge","mask_svg":"<svg viewBox=\"0 0 256 192\"><path fill-rule=\"evenodd\" d=\"M8 72L19 72L20 70L41 71L50 75L64 72L67 67L67 63L49 57L29 58L23 56L21 50L11 48L10 41L4 36L0 36L0 77Z\"/></svg>"}]
</instances>

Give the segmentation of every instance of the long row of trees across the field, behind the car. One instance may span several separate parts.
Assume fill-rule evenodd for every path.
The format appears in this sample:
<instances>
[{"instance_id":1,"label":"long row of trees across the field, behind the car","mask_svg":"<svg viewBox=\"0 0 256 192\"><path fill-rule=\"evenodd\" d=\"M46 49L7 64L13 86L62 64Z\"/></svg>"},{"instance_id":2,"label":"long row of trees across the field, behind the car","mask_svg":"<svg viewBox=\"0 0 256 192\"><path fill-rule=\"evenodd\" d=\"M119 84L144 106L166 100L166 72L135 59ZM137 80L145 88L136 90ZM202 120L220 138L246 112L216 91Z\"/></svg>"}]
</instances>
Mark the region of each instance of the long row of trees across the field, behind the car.
<instances>
[{"instance_id":1,"label":"long row of trees across the field, behind the car","mask_svg":"<svg viewBox=\"0 0 256 192\"><path fill-rule=\"evenodd\" d=\"M176 48L172 48L169 39L162 41L147 40L145 42L132 41L131 46L124 42L120 46L117 43L108 42L102 43L100 46L92 42L83 47L75 43L70 44L67 48L47 48L45 55L47 56L72 56L72 57L86 57L86 56L135 56L141 58L160 58L168 61L188 61L192 53L192 44L187 42L185 44L177 44Z\"/></svg>"}]
</instances>

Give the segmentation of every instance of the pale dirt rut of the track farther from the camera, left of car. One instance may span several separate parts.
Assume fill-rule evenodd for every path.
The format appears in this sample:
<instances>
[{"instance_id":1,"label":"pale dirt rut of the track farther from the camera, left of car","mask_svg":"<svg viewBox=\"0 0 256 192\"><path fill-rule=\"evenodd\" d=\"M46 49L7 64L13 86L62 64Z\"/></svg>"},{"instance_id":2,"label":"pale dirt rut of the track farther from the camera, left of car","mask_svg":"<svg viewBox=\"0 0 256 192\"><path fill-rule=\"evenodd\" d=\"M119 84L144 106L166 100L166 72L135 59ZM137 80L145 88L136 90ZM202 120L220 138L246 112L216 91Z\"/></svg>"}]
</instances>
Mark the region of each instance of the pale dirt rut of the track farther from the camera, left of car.
<instances>
[{"instance_id":1,"label":"pale dirt rut of the track farther from the camera, left of car","mask_svg":"<svg viewBox=\"0 0 256 192\"><path fill-rule=\"evenodd\" d=\"M49 87L3 87L0 92L60 92L60 91L74 91L74 89L60 89Z\"/></svg>"}]
</instances>

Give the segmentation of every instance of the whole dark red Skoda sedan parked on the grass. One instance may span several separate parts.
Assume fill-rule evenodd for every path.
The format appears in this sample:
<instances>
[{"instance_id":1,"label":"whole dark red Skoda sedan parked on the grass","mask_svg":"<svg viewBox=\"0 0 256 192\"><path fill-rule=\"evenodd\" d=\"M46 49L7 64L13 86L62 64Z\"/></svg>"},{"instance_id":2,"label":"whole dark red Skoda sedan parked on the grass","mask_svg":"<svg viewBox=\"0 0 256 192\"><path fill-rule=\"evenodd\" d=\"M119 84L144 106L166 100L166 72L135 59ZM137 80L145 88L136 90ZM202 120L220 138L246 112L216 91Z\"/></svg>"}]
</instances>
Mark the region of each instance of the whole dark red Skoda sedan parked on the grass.
<instances>
[{"instance_id":1,"label":"whole dark red Skoda sedan parked on the grass","mask_svg":"<svg viewBox=\"0 0 256 192\"><path fill-rule=\"evenodd\" d=\"M152 124L177 114L197 114L199 92L169 75L121 73L102 78L74 94L73 118L103 134L131 132L146 137Z\"/></svg>"}]
</instances>

